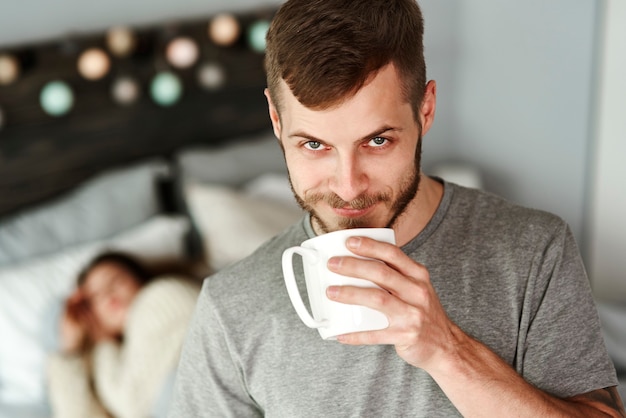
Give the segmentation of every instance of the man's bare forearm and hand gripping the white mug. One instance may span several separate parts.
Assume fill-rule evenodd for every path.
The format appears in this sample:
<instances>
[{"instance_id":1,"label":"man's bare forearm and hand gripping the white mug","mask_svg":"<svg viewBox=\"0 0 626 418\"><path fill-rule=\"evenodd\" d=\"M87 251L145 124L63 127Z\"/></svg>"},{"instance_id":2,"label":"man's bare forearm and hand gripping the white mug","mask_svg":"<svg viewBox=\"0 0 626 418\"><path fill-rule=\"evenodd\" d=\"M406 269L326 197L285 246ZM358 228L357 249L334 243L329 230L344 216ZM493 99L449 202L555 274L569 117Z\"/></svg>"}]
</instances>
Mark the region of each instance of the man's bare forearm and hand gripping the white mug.
<instances>
[{"instance_id":1,"label":"man's bare forearm and hand gripping the white mug","mask_svg":"<svg viewBox=\"0 0 626 418\"><path fill-rule=\"evenodd\" d=\"M394 345L406 362L431 375L463 416L624 416L614 389L561 399L534 387L448 318L424 266L393 245L367 238L356 241L356 246L349 247L351 251L384 263L341 257L331 259L329 268L372 280L386 291L333 286L327 294L338 302L385 313L390 326L340 336L338 341Z\"/></svg>"}]
</instances>

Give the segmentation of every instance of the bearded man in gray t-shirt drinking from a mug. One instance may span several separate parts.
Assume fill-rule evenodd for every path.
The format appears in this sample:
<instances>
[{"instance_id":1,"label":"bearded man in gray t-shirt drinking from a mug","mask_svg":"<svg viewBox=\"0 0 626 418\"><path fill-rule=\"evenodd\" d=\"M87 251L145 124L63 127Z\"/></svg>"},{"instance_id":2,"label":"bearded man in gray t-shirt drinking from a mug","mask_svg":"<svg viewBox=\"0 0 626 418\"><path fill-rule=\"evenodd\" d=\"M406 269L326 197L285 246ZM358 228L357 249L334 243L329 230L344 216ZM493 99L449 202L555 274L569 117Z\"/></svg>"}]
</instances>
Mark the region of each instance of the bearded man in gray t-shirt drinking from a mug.
<instances>
[{"instance_id":1,"label":"bearded man in gray t-shirt drinking from a mug","mask_svg":"<svg viewBox=\"0 0 626 418\"><path fill-rule=\"evenodd\" d=\"M171 416L624 416L576 244L556 216L420 171L435 115L413 0L289 0L267 37L266 96L308 215L204 283ZM343 228L329 268L380 289L327 296L387 329L324 341L281 254Z\"/></svg>"}]
</instances>

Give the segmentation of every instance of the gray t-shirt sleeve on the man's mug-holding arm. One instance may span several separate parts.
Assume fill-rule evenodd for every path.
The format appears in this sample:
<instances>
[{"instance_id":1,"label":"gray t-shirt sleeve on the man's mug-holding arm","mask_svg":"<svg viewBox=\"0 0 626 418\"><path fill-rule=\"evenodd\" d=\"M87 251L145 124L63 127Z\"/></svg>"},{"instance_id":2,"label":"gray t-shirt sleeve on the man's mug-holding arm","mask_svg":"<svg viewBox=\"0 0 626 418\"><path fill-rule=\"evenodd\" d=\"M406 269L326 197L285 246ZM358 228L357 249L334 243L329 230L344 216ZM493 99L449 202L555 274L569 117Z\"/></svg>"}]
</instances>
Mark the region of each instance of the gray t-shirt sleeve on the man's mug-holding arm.
<instances>
[{"instance_id":1,"label":"gray t-shirt sleeve on the man's mug-holding arm","mask_svg":"<svg viewBox=\"0 0 626 418\"><path fill-rule=\"evenodd\" d=\"M524 378L559 397L617 385L589 280L563 221L547 248L538 251L531 269L523 319L526 336L518 353Z\"/></svg>"}]
</instances>

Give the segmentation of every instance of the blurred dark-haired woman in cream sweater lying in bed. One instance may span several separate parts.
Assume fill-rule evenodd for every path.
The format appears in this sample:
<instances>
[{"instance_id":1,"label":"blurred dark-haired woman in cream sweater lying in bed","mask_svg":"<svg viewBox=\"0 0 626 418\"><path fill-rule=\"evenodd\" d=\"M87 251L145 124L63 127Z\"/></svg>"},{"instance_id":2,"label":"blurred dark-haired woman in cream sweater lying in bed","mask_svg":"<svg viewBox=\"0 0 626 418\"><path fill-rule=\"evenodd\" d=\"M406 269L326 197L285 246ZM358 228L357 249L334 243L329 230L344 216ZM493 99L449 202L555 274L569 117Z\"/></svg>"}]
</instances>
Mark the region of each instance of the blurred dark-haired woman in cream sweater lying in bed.
<instances>
[{"instance_id":1,"label":"blurred dark-haired woman in cream sweater lying in bed","mask_svg":"<svg viewBox=\"0 0 626 418\"><path fill-rule=\"evenodd\" d=\"M49 359L54 416L153 415L198 292L198 282L180 276L152 278L126 254L94 259L66 301L61 349Z\"/></svg>"}]
</instances>

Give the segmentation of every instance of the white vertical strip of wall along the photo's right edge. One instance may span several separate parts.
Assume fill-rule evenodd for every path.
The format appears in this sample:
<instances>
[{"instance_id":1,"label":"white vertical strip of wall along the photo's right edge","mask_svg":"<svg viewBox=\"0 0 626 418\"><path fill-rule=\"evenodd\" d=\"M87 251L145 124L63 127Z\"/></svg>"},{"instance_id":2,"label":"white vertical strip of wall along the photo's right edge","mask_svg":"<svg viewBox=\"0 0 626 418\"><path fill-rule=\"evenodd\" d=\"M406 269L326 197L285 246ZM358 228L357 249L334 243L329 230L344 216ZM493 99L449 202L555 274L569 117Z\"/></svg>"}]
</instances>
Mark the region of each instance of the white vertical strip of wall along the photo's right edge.
<instances>
[{"instance_id":1,"label":"white vertical strip of wall along the photo's right edge","mask_svg":"<svg viewBox=\"0 0 626 418\"><path fill-rule=\"evenodd\" d=\"M626 2L604 2L589 272L601 299L626 301Z\"/></svg>"}]
</instances>

